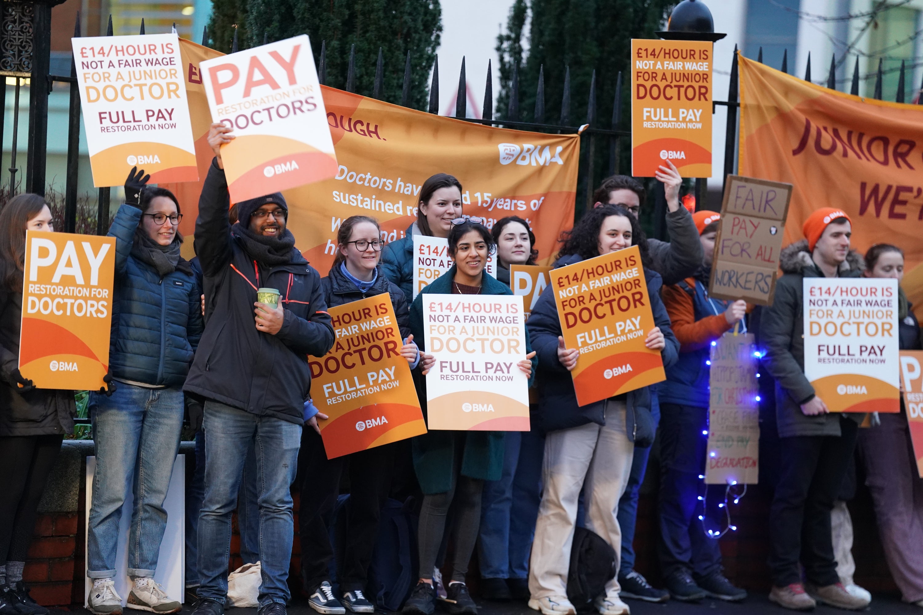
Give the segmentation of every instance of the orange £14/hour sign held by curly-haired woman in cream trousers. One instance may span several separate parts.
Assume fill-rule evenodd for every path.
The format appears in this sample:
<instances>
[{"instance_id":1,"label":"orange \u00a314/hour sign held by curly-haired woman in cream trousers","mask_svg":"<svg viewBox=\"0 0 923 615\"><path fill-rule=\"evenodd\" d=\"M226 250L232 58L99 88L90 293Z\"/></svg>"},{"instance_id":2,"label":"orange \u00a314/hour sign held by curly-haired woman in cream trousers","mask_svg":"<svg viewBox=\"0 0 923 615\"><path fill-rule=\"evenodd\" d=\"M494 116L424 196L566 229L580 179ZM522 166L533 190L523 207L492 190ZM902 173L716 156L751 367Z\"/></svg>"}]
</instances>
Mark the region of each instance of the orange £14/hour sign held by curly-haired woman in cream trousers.
<instances>
[{"instance_id":1,"label":"orange \u00a314/hour sign held by curly-haired woman in cream trousers","mask_svg":"<svg viewBox=\"0 0 923 615\"><path fill-rule=\"evenodd\" d=\"M641 253L633 245L550 273L564 343L580 349L570 372L581 406L665 380Z\"/></svg>"}]
</instances>

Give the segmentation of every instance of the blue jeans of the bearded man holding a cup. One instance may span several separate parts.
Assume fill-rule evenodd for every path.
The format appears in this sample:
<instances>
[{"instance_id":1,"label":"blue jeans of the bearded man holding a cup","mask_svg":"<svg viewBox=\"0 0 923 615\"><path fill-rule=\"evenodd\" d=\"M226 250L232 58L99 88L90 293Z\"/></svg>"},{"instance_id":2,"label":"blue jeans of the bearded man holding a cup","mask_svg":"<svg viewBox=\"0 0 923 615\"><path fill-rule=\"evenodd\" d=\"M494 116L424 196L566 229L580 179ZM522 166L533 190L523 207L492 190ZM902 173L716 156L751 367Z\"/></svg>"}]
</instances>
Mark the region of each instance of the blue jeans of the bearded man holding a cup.
<instances>
[{"instance_id":1,"label":"blue jeans of the bearded man holding a cup","mask_svg":"<svg viewBox=\"0 0 923 615\"><path fill-rule=\"evenodd\" d=\"M285 604L294 520L290 488L298 468L301 425L205 402L205 500L198 517L198 597L224 603L231 560L231 514L246 455L255 446L259 485L259 608Z\"/></svg>"}]
</instances>

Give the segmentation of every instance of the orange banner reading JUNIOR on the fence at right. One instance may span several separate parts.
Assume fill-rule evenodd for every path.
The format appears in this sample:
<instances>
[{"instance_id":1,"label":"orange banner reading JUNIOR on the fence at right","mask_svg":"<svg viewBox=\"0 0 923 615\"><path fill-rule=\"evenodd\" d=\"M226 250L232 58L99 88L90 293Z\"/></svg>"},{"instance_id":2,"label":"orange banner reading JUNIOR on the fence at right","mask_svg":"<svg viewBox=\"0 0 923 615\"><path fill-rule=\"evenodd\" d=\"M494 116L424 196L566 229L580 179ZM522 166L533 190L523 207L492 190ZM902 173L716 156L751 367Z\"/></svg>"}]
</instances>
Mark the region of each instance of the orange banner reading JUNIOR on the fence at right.
<instances>
[{"instance_id":1,"label":"orange banner reading JUNIOR on the fence at right","mask_svg":"<svg viewBox=\"0 0 923 615\"><path fill-rule=\"evenodd\" d=\"M923 312L923 107L821 88L738 54L739 173L794 184L785 244L820 207L853 220L852 244L905 250L903 286Z\"/></svg>"}]
</instances>

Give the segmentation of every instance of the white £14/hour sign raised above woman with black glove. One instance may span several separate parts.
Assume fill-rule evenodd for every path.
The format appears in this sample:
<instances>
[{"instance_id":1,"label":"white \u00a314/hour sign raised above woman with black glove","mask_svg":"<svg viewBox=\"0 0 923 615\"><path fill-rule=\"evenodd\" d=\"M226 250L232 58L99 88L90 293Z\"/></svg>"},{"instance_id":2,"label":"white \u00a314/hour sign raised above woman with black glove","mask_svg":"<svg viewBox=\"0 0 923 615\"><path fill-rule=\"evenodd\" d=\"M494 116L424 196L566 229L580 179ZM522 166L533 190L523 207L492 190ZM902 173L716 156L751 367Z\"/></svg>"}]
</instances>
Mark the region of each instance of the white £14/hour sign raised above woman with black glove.
<instances>
[{"instance_id":1,"label":"white \u00a314/hour sign raised above woman with black glove","mask_svg":"<svg viewBox=\"0 0 923 615\"><path fill-rule=\"evenodd\" d=\"M195 182L196 148L175 34L71 39L93 185Z\"/></svg>"}]
</instances>

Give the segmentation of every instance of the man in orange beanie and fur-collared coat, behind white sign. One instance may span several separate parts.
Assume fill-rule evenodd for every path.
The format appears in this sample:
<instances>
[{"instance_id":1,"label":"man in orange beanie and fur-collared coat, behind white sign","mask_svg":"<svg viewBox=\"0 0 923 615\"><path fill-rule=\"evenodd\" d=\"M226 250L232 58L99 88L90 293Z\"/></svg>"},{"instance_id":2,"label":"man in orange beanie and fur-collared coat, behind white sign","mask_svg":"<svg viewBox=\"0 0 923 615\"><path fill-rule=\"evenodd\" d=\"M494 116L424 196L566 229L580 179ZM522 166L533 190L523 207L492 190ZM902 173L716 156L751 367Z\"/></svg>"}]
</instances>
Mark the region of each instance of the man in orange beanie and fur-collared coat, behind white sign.
<instances>
[{"instance_id":1,"label":"man in orange beanie and fur-collared coat, behind white sign","mask_svg":"<svg viewBox=\"0 0 923 615\"><path fill-rule=\"evenodd\" d=\"M850 595L836 574L830 514L863 415L831 414L805 376L802 290L804 278L857 278L862 256L849 249L852 221L842 210L817 209L802 231L807 239L780 254L785 275L761 317L763 362L776 381L776 422L783 440L769 515L769 598L786 609L812 609L818 601L862 609L869 601ZM799 560L806 584L801 582Z\"/></svg>"}]
</instances>

